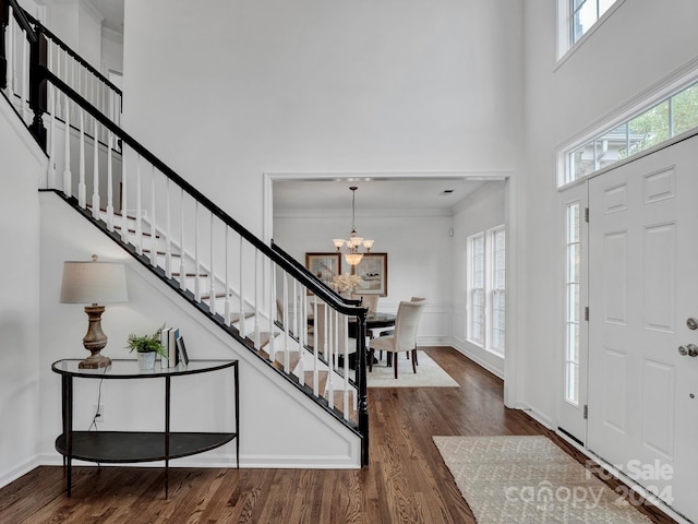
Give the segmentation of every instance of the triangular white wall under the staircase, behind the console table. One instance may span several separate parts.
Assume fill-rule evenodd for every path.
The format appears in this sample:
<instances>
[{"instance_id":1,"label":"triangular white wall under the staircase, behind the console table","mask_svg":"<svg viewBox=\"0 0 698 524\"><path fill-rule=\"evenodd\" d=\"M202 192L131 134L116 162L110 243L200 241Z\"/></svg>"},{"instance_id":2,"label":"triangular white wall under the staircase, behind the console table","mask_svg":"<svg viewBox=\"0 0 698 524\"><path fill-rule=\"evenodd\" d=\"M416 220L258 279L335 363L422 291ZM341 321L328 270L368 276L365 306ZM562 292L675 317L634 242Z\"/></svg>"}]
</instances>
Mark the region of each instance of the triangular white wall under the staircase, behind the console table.
<instances>
[{"instance_id":1,"label":"triangular white wall under the staircase, behind the console table","mask_svg":"<svg viewBox=\"0 0 698 524\"><path fill-rule=\"evenodd\" d=\"M60 376L51 364L61 358L85 358L82 338L87 317L81 305L60 303L65 260L122 261L127 265L129 302L108 305L103 329L109 342L103 353L134 358L125 349L129 333L147 334L163 323L180 327L191 358L240 359L240 461L244 467L358 467L359 438L332 419L304 394L278 380L277 372L242 348L210 320L182 300L164 283L88 224L53 193L41 193L40 337L34 362L40 373L38 410L41 420L38 453L41 463L59 464L53 441L61 428ZM173 430L225 430L232 424L231 382L222 374L172 380ZM228 376L229 377L229 376ZM97 403L98 381L75 381L75 429L87 429ZM164 381L105 381L104 430L161 430ZM145 397L145 402L144 402ZM234 465L234 443L202 455L177 460L183 465Z\"/></svg>"}]
</instances>

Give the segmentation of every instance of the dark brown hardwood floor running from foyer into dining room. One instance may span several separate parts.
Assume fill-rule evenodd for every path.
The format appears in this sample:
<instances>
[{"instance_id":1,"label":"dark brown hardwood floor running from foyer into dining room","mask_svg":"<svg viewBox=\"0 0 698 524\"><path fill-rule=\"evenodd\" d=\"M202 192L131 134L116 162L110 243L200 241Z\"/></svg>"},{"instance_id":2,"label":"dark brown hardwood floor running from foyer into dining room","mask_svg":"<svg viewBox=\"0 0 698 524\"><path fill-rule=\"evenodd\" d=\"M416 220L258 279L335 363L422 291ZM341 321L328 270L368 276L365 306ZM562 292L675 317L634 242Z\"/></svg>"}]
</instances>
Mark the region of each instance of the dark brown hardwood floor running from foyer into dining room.
<instances>
[{"instance_id":1,"label":"dark brown hardwood floor running from foyer into dining room","mask_svg":"<svg viewBox=\"0 0 698 524\"><path fill-rule=\"evenodd\" d=\"M428 348L460 388L371 389L371 463L357 471L41 466L0 490L0 523L474 523L433 436L545 434L503 405L503 382L453 348ZM407 365L406 365L407 369ZM243 450L244 453L244 450ZM645 510L655 523L673 521Z\"/></svg>"}]
</instances>

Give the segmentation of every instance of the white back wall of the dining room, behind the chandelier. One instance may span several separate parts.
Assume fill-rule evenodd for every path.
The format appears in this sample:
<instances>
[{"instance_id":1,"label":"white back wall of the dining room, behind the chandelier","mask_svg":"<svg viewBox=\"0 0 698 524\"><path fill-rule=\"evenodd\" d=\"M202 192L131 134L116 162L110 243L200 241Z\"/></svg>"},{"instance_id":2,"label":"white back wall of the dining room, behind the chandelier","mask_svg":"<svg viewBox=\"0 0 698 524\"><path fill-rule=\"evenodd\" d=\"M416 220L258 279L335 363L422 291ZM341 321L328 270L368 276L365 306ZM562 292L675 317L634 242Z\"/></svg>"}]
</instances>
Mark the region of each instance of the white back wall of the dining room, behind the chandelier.
<instances>
[{"instance_id":1,"label":"white back wall of the dining room, behind the chandelier","mask_svg":"<svg viewBox=\"0 0 698 524\"><path fill-rule=\"evenodd\" d=\"M400 300L413 296L428 300L420 319L418 343L450 343L453 226L450 213L437 211L357 212L357 230L375 243L372 251L388 253L388 293L378 310L396 312ZM278 212L274 241L296 260L305 263L306 252L333 252L333 238L349 236L350 211L312 210ZM342 261L342 273L350 270Z\"/></svg>"}]
</instances>

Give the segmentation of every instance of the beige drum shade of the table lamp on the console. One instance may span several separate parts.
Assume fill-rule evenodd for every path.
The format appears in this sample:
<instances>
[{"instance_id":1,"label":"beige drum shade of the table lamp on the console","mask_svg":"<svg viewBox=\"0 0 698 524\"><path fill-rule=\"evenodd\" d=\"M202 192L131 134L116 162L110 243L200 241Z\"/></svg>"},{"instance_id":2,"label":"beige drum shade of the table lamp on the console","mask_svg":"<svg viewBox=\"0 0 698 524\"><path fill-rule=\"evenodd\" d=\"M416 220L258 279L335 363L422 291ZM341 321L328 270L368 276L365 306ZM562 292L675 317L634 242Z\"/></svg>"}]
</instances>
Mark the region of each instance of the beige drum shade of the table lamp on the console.
<instances>
[{"instance_id":1,"label":"beige drum shade of the table lamp on the console","mask_svg":"<svg viewBox=\"0 0 698 524\"><path fill-rule=\"evenodd\" d=\"M123 264L63 262L61 302L110 303L129 300Z\"/></svg>"}]
</instances>

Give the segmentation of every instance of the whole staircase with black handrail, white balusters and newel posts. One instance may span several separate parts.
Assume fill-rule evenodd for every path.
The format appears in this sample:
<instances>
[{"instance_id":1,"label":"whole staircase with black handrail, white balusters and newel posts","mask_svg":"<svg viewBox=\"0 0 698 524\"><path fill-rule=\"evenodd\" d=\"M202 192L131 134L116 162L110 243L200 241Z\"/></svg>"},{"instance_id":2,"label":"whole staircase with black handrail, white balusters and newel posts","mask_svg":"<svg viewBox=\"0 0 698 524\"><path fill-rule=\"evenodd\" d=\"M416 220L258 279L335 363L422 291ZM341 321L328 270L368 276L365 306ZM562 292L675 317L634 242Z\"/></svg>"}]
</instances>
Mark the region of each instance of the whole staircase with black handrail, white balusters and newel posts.
<instances>
[{"instance_id":1,"label":"whole staircase with black handrail, white balusters and newel posts","mask_svg":"<svg viewBox=\"0 0 698 524\"><path fill-rule=\"evenodd\" d=\"M16 0L0 0L0 90L49 157L43 189L174 289L192 314L359 434L366 465L366 369L348 366L353 352L365 362L366 309L255 237L129 135L120 90ZM308 322L318 303L326 305L322 348ZM350 321L354 338L340 337Z\"/></svg>"}]
</instances>

